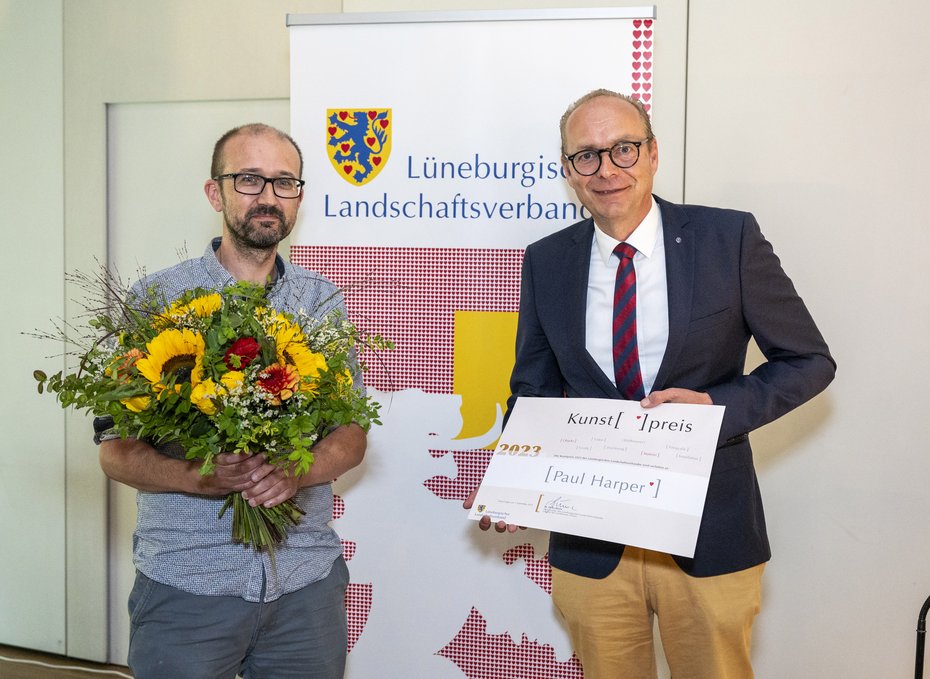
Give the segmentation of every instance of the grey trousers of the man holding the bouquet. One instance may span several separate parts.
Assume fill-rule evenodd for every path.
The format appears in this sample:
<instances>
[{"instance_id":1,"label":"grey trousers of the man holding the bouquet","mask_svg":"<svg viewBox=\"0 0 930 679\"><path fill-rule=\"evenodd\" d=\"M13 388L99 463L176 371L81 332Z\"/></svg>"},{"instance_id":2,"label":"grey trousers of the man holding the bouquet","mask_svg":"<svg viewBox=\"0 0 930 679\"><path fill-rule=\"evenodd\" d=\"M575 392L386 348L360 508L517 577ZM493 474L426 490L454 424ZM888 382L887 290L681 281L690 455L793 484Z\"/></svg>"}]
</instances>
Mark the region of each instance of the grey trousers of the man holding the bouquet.
<instances>
[{"instance_id":1,"label":"grey trousers of the man holding the bouquet","mask_svg":"<svg viewBox=\"0 0 930 679\"><path fill-rule=\"evenodd\" d=\"M136 679L341 679L345 592L329 575L267 603L198 596L136 573L129 596L129 667Z\"/></svg>"}]
</instances>

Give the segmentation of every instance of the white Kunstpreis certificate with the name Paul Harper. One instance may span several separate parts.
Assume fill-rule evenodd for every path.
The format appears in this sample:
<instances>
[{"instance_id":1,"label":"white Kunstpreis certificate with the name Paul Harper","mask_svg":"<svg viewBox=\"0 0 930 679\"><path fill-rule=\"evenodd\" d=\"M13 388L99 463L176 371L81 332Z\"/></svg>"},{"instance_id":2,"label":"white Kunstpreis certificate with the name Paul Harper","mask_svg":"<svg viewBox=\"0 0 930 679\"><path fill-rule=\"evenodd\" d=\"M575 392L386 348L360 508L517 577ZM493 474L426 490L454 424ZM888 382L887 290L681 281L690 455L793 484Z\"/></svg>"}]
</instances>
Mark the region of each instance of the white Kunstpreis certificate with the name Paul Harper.
<instances>
[{"instance_id":1,"label":"white Kunstpreis certificate with the name Paul Harper","mask_svg":"<svg viewBox=\"0 0 930 679\"><path fill-rule=\"evenodd\" d=\"M723 411L522 397L469 518L692 557Z\"/></svg>"}]
</instances>

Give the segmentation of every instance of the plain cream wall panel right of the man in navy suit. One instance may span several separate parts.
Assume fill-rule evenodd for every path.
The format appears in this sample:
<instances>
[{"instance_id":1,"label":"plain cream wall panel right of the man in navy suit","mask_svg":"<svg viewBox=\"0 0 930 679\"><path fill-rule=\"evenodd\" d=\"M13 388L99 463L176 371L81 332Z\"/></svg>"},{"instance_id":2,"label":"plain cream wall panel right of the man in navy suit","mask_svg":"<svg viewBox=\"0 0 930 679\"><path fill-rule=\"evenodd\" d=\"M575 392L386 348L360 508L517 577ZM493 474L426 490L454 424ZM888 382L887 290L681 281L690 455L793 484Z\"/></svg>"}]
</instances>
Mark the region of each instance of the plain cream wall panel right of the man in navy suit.
<instances>
[{"instance_id":1,"label":"plain cream wall panel right of the man in navy suit","mask_svg":"<svg viewBox=\"0 0 930 679\"><path fill-rule=\"evenodd\" d=\"M686 200L755 212L838 362L754 437L761 676L911 676L930 595L930 4L691 3Z\"/></svg>"}]
</instances>

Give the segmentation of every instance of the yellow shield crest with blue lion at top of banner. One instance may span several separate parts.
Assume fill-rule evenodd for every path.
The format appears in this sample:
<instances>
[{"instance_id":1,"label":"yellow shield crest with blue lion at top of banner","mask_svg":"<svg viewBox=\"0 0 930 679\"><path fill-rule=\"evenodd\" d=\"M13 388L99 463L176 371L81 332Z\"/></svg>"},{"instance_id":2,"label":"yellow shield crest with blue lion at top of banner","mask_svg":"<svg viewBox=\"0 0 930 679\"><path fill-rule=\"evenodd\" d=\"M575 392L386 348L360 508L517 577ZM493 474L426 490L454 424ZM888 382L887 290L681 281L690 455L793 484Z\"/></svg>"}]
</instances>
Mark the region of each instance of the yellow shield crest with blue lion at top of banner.
<instances>
[{"instance_id":1,"label":"yellow shield crest with blue lion at top of banner","mask_svg":"<svg viewBox=\"0 0 930 679\"><path fill-rule=\"evenodd\" d=\"M326 150L336 173L353 186L378 176L391 155L391 109L326 110Z\"/></svg>"}]
</instances>

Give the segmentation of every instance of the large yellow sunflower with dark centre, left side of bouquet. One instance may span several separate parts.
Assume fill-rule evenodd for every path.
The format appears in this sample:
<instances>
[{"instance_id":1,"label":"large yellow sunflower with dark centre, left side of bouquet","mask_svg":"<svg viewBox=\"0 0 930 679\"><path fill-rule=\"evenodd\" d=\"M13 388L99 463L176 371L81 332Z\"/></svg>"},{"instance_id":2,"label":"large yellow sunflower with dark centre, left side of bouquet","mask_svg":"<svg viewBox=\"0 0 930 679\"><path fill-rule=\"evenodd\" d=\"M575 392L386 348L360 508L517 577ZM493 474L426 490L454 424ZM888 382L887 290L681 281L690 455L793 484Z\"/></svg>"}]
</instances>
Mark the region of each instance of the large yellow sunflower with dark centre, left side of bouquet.
<instances>
[{"instance_id":1,"label":"large yellow sunflower with dark centre, left side of bouquet","mask_svg":"<svg viewBox=\"0 0 930 679\"><path fill-rule=\"evenodd\" d=\"M192 330L163 330L145 348L148 350L136 361L136 370L152 384L156 394L174 384L180 391L181 382L196 386L202 372L204 341L200 333Z\"/></svg>"}]
</instances>

